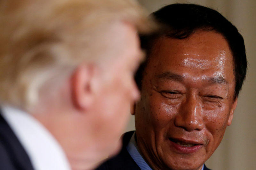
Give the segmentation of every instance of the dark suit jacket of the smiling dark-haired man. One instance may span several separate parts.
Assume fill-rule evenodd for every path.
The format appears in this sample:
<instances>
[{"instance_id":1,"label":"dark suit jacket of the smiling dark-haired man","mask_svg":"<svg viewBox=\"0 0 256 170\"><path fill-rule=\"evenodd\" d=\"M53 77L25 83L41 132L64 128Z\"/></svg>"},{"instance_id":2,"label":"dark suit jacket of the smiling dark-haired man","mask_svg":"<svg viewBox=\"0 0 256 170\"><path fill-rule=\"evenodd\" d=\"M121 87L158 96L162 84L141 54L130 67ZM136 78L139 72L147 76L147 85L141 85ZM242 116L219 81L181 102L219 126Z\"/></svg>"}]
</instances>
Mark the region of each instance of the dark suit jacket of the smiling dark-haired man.
<instances>
[{"instance_id":1,"label":"dark suit jacket of the smiling dark-haired man","mask_svg":"<svg viewBox=\"0 0 256 170\"><path fill-rule=\"evenodd\" d=\"M96 170L141 170L126 149L133 132L134 131L130 131L124 134L123 148L119 154L101 164ZM204 170L210 169L204 165Z\"/></svg>"}]
</instances>

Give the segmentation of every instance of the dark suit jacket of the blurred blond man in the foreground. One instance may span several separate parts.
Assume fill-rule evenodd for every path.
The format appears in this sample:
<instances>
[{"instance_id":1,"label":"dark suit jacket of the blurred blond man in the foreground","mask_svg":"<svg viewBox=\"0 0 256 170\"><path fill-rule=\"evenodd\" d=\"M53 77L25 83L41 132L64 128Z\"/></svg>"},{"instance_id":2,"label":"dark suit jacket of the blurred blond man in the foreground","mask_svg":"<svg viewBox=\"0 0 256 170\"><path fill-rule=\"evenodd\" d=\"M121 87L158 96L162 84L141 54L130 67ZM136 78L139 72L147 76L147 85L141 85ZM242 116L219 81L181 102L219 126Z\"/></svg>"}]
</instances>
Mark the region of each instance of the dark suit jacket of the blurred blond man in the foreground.
<instances>
[{"instance_id":1,"label":"dark suit jacket of the blurred blond man in the foreground","mask_svg":"<svg viewBox=\"0 0 256 170\"><path fill-rule=\"evenodd\" d=\"M0 169L34 170L30 159L8 123L0 114Z\"/></svg>"}]
</instances>

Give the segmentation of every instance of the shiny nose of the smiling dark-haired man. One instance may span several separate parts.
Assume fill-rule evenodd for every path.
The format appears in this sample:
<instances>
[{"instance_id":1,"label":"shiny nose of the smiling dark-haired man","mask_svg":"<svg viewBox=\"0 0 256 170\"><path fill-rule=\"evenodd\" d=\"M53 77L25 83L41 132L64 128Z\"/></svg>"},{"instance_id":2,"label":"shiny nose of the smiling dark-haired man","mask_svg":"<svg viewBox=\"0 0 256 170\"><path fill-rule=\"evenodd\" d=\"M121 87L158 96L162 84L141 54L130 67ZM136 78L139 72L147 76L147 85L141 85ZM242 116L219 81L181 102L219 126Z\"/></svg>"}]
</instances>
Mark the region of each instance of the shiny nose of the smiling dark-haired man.
<instances>
[{"instance_id":1,"label":"shiny nose of the smiling dark-haired man","mask_svg":"<svg viewBox=\"0 0 256 170\"><path fill-rule=\"evenodd\" d=\"M202 105L197 101L196 96L183 101L178 112L174 120L176 127L186 131L203 129Z\"/></svg>"}]
</instances>

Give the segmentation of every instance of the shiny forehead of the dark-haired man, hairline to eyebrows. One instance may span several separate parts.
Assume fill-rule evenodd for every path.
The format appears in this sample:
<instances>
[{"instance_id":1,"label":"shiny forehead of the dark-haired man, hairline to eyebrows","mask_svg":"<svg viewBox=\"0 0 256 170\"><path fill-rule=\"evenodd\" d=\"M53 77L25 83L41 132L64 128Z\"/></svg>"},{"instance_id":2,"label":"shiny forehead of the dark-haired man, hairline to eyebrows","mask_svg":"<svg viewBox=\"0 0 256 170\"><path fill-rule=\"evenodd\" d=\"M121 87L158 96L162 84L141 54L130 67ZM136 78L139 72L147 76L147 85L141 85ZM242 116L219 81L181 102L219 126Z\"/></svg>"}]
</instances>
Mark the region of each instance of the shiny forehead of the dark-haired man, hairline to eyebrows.
<instances>
[{"instance_id":1,"label":"shiny forehead of the dark-haired man, hairline to eyebrows","mask_svg":"<svg viewBox=\"0 0 256 170\"><path fill-rule=\"evenodd\" d=\"M191 78L234 80L233 57L228 42L213 31L198 31L186 39L157 39L146 70L151 76L173 72Z\"/></svg>"}]
</instances>

